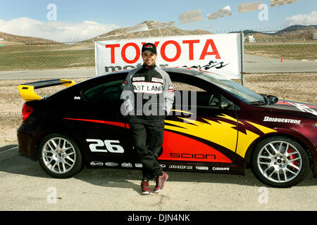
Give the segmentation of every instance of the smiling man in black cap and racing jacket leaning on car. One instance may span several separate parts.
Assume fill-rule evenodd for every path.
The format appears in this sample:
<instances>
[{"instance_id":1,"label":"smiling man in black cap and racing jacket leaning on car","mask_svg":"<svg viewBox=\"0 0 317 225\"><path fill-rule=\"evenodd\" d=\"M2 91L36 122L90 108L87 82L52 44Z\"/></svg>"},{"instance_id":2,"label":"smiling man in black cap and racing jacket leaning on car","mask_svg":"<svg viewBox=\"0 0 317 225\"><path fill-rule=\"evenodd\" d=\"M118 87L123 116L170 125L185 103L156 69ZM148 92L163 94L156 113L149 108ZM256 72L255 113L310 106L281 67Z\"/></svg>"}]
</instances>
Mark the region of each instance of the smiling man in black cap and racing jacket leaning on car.
<instances>
[{"instance_id":1,"label":"smiling man in black cap and racing jacket leaning on car","mask_svg":"<svg viewBox=\"0 0 317 225\"><path fill-rule=\"evenodd\" d=\"M149 180L156 179L154 193L163 189L168 174L163 172L158 156L163 144L164 119L173 106L173 84L167 72L155 64L156 46L142 46L143 65L131 70L125 79L124 106L129 114L135 150L142 162L142 194L151 193Z\"/></svg>"}]
</instances>

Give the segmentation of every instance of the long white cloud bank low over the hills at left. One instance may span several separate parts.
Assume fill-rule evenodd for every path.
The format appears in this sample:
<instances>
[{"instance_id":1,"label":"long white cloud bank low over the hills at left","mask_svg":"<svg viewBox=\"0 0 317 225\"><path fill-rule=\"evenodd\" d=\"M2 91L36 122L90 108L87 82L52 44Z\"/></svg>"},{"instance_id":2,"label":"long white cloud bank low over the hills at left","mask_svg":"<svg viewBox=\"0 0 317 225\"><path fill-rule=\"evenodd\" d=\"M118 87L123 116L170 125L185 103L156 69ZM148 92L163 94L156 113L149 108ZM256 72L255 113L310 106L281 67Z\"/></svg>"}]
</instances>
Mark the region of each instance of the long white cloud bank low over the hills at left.
<instances>
[{"instance_id":1,"label":"long white cloud bank low over the hills at left","mask_svg":"<svg viewBox=\"0 0 317 225\"><path fill-rule=\"evenodd\" d=\"M82 41L118 28L118 25L107 25L89 20L82 23L42 22L31 18L0 20L0 32L54 41Z\"/></svg>"}]
</instances>

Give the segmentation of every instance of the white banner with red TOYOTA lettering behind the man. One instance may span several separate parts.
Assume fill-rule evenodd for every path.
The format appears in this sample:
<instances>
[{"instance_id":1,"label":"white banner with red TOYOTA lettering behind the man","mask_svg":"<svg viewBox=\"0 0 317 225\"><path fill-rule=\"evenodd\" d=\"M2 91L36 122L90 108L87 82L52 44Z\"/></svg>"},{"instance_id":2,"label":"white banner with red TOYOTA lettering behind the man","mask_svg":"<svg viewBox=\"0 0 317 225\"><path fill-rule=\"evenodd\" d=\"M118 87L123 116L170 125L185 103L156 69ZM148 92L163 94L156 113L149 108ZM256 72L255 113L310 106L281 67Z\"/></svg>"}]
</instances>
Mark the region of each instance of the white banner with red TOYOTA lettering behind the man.
<instances>
[{"instance_id":1,"label":"white banner with red TOYOTA lettering behind the man","mask_svg":"<svg viewBox=\"0 0 317 225\"><path fill-rule=\"evenodd\" d=\"M142 45L156 45L156 65L196 68L240 79L240 34L206 34L174 37L147 37L95 42L97 75L129 70L143 64Z\"/></svg>"}]
</instances>

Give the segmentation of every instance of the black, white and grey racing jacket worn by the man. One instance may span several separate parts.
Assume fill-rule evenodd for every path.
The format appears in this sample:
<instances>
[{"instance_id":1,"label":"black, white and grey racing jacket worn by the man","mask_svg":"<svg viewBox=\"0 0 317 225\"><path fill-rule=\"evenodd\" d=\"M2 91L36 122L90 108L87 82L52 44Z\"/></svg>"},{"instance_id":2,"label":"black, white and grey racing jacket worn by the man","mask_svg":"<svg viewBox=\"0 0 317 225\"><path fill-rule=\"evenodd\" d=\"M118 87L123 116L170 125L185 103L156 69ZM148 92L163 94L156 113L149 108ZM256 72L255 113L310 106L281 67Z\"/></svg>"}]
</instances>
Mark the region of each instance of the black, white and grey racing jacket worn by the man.
<instances>
[{"instance_id":1,"label":"black, white and grey racing jacket worn by the man","mask_svg":"<svg viewBox=\"0 0 317 225\"><path fill-rule=\"evenodd\" d=\"M173 107L173 84L167 72L143 64L128 73L122 98L126 114L166 115Z\"/></svg>"}]
</instances>

